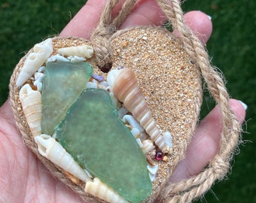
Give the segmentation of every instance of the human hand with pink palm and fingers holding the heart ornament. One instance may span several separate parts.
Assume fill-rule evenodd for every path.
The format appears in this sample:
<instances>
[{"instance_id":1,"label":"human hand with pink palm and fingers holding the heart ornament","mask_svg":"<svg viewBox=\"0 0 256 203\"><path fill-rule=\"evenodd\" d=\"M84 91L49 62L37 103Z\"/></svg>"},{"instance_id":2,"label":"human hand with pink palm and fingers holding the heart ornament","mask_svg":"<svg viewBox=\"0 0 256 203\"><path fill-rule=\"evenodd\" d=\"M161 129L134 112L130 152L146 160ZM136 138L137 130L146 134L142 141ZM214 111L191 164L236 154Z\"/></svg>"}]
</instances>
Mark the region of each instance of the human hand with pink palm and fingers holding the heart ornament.
<instances>
[{"instance_id":1,"label":"human hand with pink palm and fingers holding the heart ornament","mask_svg":"<svg viewBox=\"0 0 256 203\"><path fill-rule=\"evenodd\" d=\"M62 36L90 38L96 27L106 1L89 0L72 21L61 32ZM117 11L116 11L117 12ZM199 11L185 15L186 23L199 34L203 43L209 39L212 23ZM165 20L163 12L153 0L140 1L120 27L136 25L160 26ZM240 123L244 120L245 109L236 100L230 100L230 107ZM44 165L23 143L15 126L9 101L0 108L0 201L1 202L79 202L77 194L59 180L52 177ZM219 108L213 109L197 127L196 134L187 149L187 154L174 173L171 181L185 179L198 174L215 155L221 136L221 114Z\"/></svg>"}]
</instances>

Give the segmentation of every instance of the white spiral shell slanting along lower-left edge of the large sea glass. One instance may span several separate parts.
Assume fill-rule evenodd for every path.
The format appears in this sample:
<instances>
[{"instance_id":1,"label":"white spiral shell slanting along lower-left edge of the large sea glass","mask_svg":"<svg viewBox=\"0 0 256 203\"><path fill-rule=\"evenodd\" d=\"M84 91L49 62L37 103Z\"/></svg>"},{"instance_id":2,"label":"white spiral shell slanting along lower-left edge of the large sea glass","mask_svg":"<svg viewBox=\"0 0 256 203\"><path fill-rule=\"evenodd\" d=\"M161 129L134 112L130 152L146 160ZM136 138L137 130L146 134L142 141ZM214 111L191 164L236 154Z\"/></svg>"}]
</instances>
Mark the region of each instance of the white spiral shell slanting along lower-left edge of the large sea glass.
<instances>
[{"instance_id":1,"label":"white spiral shell slanting along lower-left edge of the large sea glass","mask_svg":"<svg viewBox=\"0 0 256 203\"><path fill-rule=\"evenodd\" d=\"M38 135L35 137L35 142L38 144L38 151L41 156L46 157L60 168L68 171L70 174L78 177L84 182L92 181L86 172L72 156L50 135Z\"/></svg>"}]
</instances>

